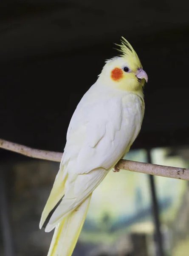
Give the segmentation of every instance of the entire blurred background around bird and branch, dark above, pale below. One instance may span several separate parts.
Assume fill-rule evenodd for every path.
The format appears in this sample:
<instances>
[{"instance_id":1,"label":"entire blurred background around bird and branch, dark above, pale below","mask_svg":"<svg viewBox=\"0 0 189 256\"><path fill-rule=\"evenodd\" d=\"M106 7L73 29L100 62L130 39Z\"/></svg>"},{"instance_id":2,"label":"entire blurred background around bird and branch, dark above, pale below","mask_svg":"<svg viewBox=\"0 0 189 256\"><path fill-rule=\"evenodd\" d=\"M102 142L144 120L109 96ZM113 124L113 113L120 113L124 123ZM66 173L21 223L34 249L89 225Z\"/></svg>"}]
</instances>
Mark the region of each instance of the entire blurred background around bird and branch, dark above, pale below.
<instances>
[{"instance_id":1,"label":"entire blurred background around bird and branch, dark above, pale below","mask_svg":"<svg viewBox=\"0 0 189 256\"><path fill-rule=\"evenodd\" d=\"M63 151L69 121L124 36L149 82L125 159L189 168L187 0L1 0L0 137ZM0 256L45 256L39 230L59 163L0 150ZM188 256L189 183L110 172L73 256Z\"/></svg>"}]
</instances>

